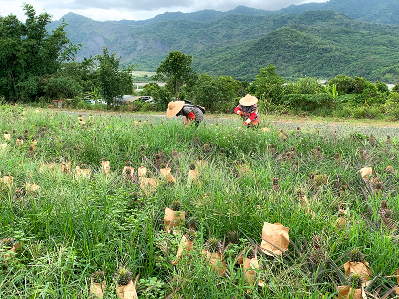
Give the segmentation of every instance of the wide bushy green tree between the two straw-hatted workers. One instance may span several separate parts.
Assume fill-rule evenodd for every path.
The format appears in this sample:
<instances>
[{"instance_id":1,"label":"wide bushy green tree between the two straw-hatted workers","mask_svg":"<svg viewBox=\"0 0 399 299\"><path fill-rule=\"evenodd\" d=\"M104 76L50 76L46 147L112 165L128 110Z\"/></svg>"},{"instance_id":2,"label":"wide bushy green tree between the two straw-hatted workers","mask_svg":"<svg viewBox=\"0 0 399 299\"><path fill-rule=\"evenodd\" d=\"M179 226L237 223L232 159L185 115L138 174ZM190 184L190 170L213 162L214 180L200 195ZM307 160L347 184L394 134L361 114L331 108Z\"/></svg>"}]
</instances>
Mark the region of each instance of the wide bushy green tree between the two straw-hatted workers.
<instances>
[{"instance_id":1,"label":"wide bushy green tree between the two straw-hatted workers","mask_svg":"<svg viewBox=\"0 0 399 299\"><path fill-rule=\"evenodd\" d=\"M231 78L231 77L230 77ZM189 97L196 104L214 112L223 104L233 102L239 86L228 77L211 77L200 74L192 87ZM233 79L234 80L234 79ZM234 80L235 81L235 80Z\"/></svg>"}]
</instances>

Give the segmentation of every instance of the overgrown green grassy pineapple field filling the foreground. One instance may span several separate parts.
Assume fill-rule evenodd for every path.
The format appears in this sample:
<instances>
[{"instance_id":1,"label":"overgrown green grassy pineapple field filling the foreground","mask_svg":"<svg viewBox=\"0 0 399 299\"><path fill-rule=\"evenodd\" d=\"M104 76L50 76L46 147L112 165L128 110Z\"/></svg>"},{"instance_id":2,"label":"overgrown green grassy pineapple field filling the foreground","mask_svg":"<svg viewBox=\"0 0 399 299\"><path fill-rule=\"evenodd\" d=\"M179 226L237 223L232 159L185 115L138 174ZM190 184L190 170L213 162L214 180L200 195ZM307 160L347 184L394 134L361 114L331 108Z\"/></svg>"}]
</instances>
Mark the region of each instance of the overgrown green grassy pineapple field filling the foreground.
<instances>
[{"instance_id":1,"label":"overgrown green grassy pineapple field filling the foreground","mask_svg":"<svg viewBox=\"0 0 399 299\"><path fill-rule=\"evenodd\" d=\"M344 129L196 129L105 114L82 126L77 115L20 106L1 106L0 118L9 134L0 142L1 299L95 298L95 271L104 298L116 299L121 267L139 299L336 298L349 284L344 265L364 267L348 254L356 248L370 264L361 270L368 298L396 296L399 140L386 144L379 128L374 141ZM122 174L125 165L135 170ZM76 166L90 178L76 179ZM165 166L175 182L162 178ZM145 187L150 178L156 187ZM170 233L167 207L181 210ZM185 235L193 247L176 258Z\"/></svg>"}]
</instances>

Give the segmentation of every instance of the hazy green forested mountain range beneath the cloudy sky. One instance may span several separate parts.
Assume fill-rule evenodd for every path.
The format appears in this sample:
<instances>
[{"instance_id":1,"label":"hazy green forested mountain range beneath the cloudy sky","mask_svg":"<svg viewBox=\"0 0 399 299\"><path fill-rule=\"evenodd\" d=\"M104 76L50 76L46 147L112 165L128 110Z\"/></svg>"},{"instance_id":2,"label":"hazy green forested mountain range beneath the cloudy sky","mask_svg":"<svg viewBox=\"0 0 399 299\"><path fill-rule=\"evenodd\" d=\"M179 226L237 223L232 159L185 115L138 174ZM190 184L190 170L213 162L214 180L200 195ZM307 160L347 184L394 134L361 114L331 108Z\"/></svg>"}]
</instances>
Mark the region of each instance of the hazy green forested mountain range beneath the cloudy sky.
<instances>
[{"instance_id":1,"label":"hazy green forested mountain range beneath the cloudy sky","mask_svg":"<svg viewBox=\"0 0 399 299\"><path fill-rule=\"evenodd\" d=\"M195 71L210 75L250 80L272 63L285 77L347 73L389 81L398 75L384 73L399 59L396 8L397 0L330 0L277 11L238 6L105 22L70 12L49 30L65 19L67 36L83 45L78 60L108 46L122 64L141 70L156 70L169 51L180 50L194 56Z\"/></svg>"}]
</instances>

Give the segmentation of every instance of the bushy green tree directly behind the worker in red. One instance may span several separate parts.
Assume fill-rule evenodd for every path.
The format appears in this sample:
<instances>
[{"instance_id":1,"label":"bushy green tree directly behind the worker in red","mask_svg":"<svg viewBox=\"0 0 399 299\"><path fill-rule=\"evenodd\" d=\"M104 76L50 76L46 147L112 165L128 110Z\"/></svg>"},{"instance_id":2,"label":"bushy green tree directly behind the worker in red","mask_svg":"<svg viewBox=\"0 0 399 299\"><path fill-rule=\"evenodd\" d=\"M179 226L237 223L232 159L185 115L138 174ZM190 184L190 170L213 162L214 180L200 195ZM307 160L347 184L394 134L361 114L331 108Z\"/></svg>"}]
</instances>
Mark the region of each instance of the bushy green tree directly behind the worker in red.
<instances>
[{"instance_id":1,"label":"bushy green tree directly behind the worker in red","mask_svg":"<svg viewBox=\"0 0 399 299\"><path fill-rule=\"evenodd\" d=\"M276 73L276 67L269 63L267 68L259 69L259 74L247 89L258 99L266 97L277 103L282 97L284 82L284 79Z\"/></svg>"}]
</instances>

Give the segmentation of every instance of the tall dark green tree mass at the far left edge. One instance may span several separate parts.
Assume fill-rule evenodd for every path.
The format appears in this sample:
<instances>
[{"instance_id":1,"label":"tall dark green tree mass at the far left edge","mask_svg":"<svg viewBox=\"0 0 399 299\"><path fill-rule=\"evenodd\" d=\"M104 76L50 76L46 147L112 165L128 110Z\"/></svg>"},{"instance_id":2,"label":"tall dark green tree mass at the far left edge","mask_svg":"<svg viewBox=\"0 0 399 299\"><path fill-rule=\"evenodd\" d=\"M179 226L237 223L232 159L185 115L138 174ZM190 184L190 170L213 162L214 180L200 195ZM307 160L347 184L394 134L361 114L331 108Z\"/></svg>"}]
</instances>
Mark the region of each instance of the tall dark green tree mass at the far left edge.
<instances>
[{"instance_id":1,"label":"tall dark green tree mass at the far left edge","mask_svg":"<svg viewBox=\"0 0 399 299\"><path fill-rule=\"evenodd\" d=\"M25 23L13 14L0 16L0 96L7 101L34 100L40 77L57 73L61 63L73 60L79 48L66 37L65 21L50 34L46 29L50 14L36 15L26 3L23 9Z\"/></svg>"}]
</instances>

